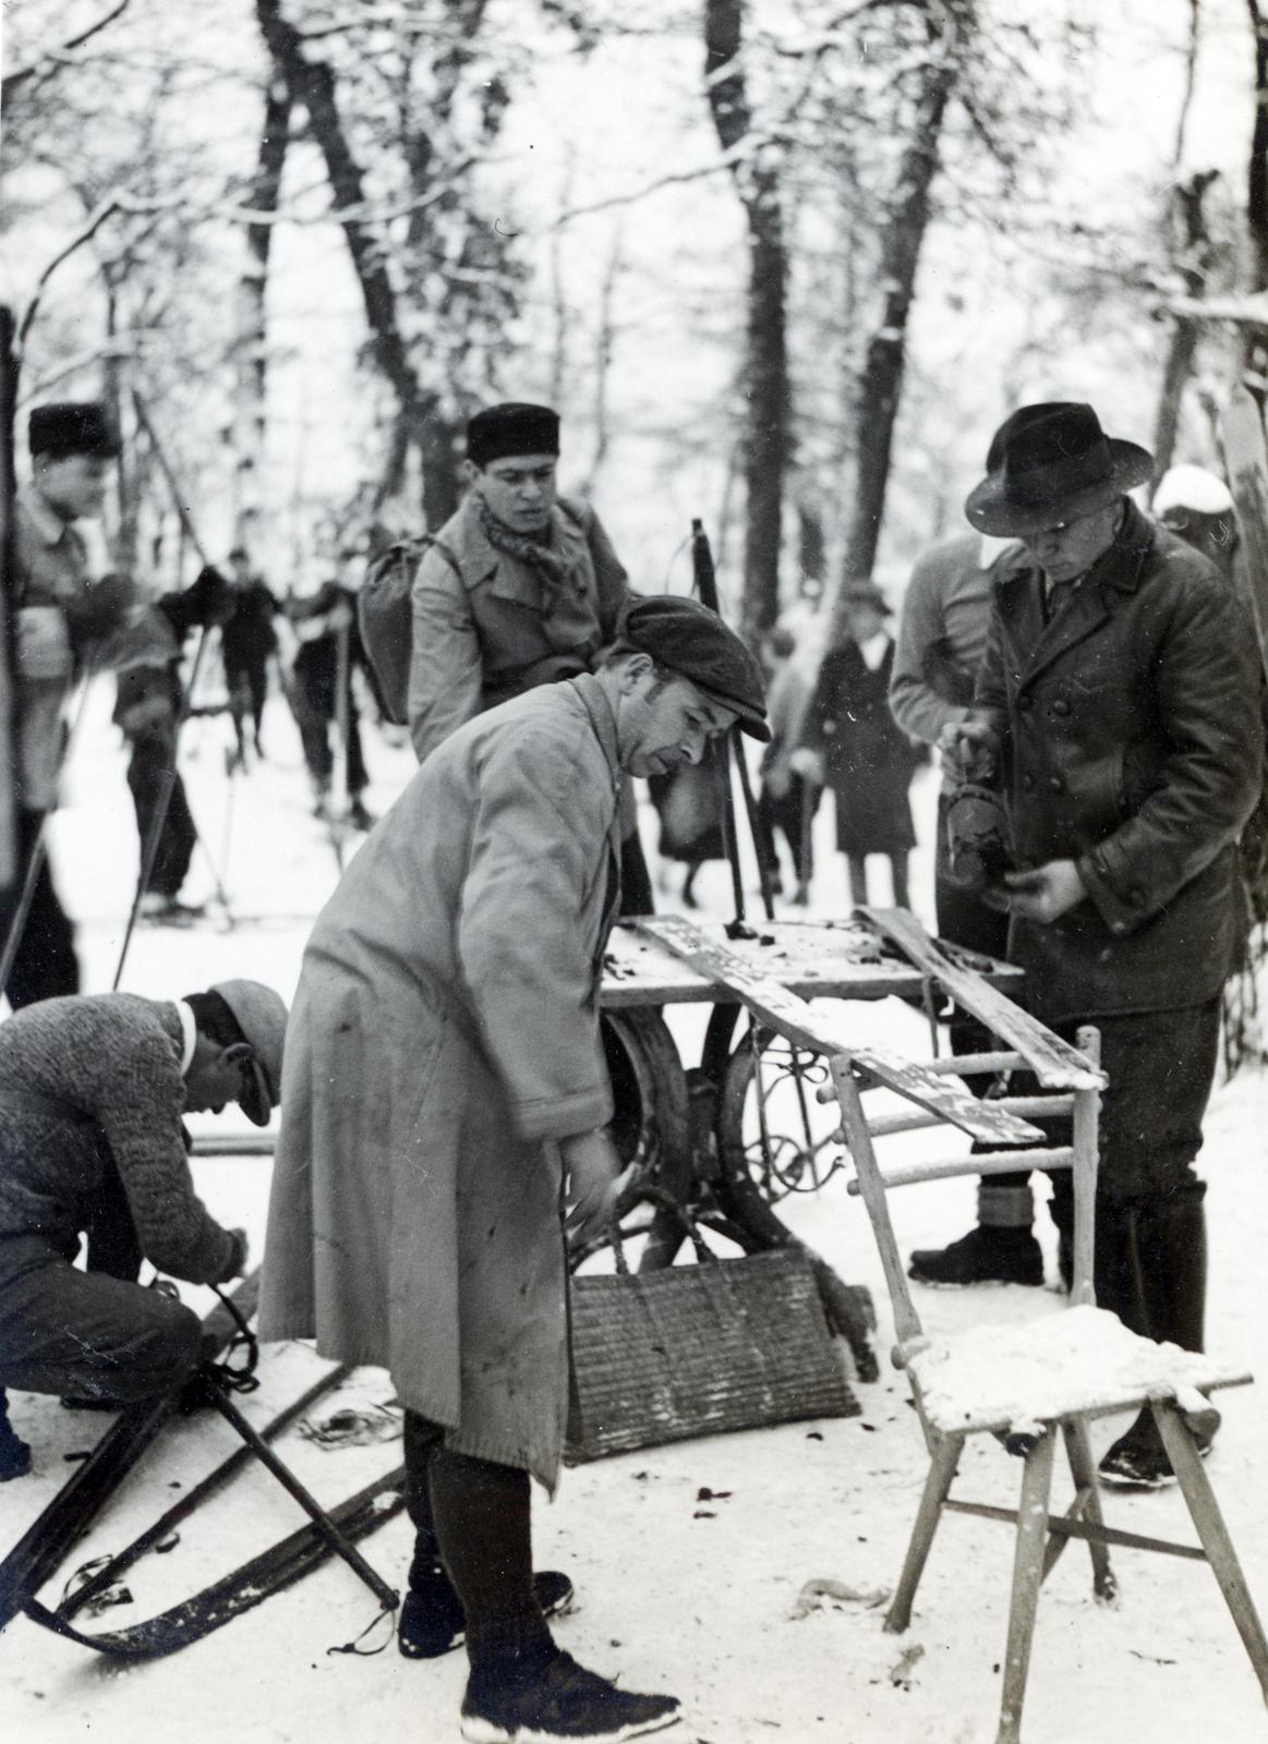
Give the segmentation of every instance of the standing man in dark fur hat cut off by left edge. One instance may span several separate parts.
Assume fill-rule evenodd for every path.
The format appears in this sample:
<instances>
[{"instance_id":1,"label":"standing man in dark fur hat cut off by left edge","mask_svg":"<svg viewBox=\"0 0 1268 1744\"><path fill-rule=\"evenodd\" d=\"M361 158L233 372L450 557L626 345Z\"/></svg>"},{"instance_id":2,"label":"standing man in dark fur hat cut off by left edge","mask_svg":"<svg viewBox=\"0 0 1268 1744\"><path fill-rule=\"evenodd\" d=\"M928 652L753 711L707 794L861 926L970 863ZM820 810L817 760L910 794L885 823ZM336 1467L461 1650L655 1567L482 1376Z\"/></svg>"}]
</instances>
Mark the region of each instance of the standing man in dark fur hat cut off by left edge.
<instances>
[{"instance_id":1,"label":"standing man in dark fur hat cut off by left edge","mask_svg":"<svg viewBox=\"0 0 1268 1744\"><path fill-rule=\"evenodd\" d=\"M58 804L70 689L87 666L106 663L133 603L120 577L91 579L87 548L75 527L101 513L119 457L105 408L94 401L35 406L28 434L31 483L14 502L12 576L17 888L44 820ZM0 944L17 888L0 902ZM5 992L17 1008L77 991L75 938L45 860Z\"/></svg>"}]
</instances>

